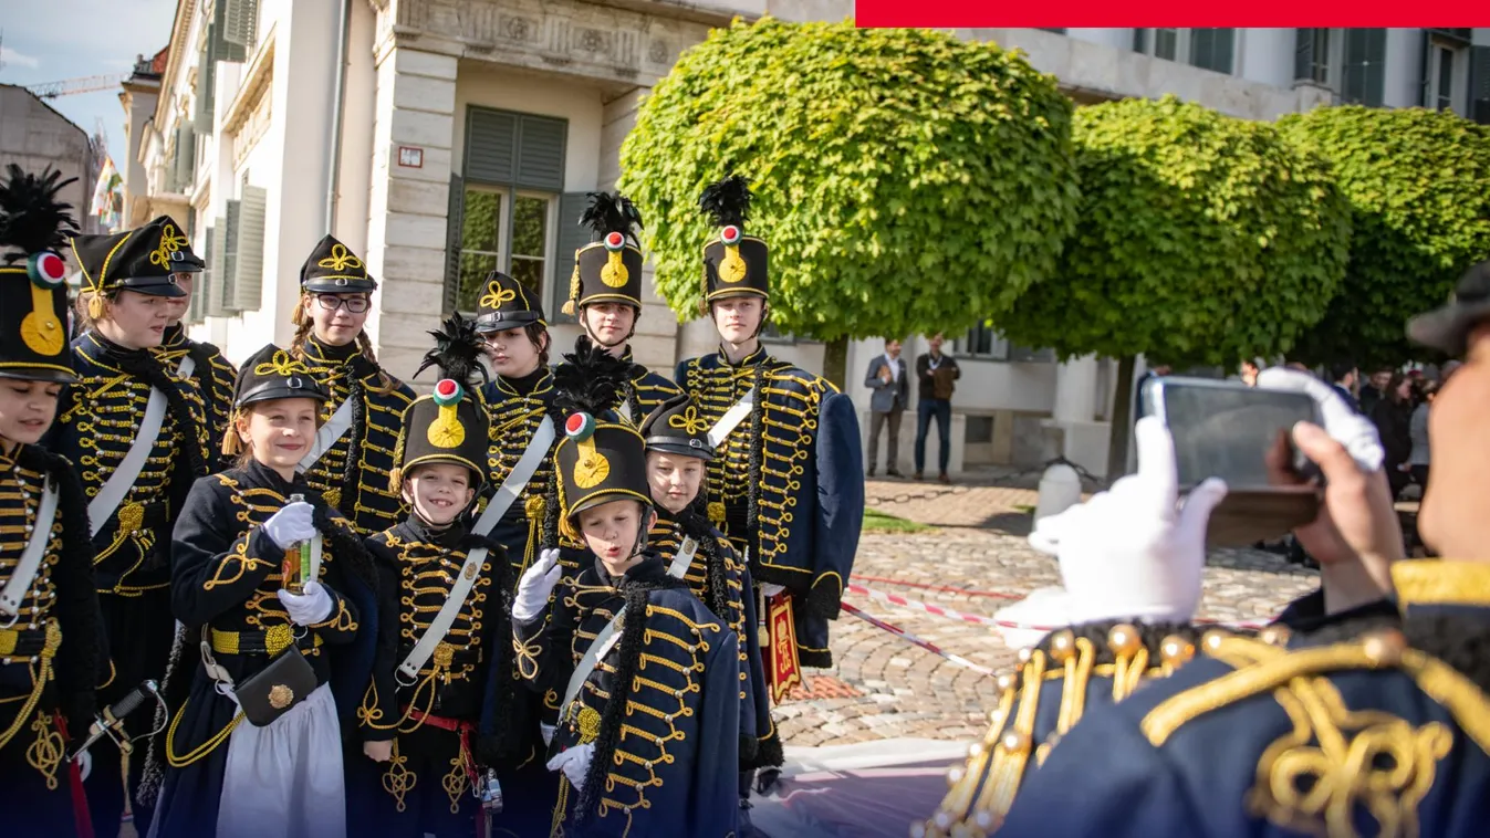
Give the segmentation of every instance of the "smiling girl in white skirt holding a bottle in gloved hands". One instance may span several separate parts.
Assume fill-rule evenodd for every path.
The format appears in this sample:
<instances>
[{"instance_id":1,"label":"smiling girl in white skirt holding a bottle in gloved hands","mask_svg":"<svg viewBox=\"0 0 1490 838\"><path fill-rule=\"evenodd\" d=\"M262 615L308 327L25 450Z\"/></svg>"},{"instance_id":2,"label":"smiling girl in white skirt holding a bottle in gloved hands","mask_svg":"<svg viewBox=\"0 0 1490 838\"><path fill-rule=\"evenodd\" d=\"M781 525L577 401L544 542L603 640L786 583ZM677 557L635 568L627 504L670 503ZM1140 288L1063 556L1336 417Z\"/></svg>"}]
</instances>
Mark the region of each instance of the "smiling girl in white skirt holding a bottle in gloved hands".
<instances>
[{"instance_id":1,"label":"smiling girl in white skirt holding a bottle in gloved hands","mask_svg":"<svg viewBox=\"0 0 1490 838\"><path fill-rule=\"evenodd\" d=\"M346 834L341 729L371 671L375 575L297 472L325 399L274 345L244 362L224 441L240 464L198 479L180 512L171 604L186 636L152 749L167 764L152 837Z\"/></svg>"}]
</instances>

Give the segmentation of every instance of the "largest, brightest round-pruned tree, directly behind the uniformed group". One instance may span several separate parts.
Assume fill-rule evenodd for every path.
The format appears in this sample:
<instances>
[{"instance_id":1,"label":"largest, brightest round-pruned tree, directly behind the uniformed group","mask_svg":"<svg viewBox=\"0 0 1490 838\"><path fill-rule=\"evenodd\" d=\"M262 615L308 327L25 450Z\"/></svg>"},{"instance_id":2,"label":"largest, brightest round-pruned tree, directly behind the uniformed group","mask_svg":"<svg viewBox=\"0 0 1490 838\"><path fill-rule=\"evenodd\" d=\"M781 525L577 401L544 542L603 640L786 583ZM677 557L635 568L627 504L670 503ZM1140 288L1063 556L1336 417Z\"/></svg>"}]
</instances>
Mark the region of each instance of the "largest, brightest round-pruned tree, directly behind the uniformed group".
<instances>
[{"instance_id":1,"label":"largest, brightest round-pruned tree, directly behind the uniformed group","mask_svg":"<svg viewBox=\"0 0 1490 838\"><path fill-rule=\"evenodd\" d=\"M992 43L772 18L715 30L621 146L662 296L696 317L702 188L751 179L772 320L828 342L955 332L1050 275L1076 220L1071 103Z\"/></svg>"}]
</instances>

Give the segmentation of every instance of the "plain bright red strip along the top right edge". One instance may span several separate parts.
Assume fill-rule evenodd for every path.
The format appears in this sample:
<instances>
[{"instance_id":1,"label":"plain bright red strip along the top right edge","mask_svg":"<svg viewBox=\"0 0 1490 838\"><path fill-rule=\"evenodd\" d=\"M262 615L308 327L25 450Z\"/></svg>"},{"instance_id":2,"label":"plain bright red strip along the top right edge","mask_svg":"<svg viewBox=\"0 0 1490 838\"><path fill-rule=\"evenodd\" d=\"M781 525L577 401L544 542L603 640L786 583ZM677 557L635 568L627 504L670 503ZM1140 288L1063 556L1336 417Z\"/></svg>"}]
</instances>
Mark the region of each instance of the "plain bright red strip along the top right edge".
<instances>
[{"instance_id":1,"label":"plain bright red strip along the top right edge","mask_svg":"<svg viewBox=\"0 0 1490 838\"><path fill-rule=\"evenodd\" d=\"M1196 19L1198 18L1198 19ZM1424 18L1457 25L1490 25L1490 3L1448 0L1423 10L1401 3L1286 3L1261 0L1237 4L1204 4L1186 0L1147 3L1092 3L1043 6L1040 3L989 3L988 0L857 0L854 19L861 27L1421 27ZM1435 21L1429 21L1435 22Z\"/></svg>"}]
</instances>

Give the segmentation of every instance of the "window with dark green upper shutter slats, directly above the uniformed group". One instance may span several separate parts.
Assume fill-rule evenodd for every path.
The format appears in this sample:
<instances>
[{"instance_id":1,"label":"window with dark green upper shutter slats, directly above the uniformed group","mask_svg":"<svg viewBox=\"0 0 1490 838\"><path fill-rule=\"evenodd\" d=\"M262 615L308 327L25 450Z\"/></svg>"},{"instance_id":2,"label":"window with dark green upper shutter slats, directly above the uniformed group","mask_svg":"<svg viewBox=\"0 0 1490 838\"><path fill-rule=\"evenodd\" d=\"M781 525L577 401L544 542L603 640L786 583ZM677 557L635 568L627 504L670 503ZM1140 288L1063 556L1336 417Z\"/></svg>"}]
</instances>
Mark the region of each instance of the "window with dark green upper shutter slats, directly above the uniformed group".
<instances>
[{"instance_id":1,"label":"window with dark green upper shutter slats, directly above the uniformed group","mask_svg":"<svg viewBox=\"0 0 1490 838\"><path fill-rule=\"evenodd\" d=\"M559 232L580 220L571 201L577 196L562 192L566 132L562 119L469 109L465 173L450 182L447 311L475 311L487 274L501 271L545 301L545 314L557 319L568 290L568 283L556 281L557 250L574 246L574 235ZM562 219L560 204L575 217Z\"/></svg>"}]
</instances>

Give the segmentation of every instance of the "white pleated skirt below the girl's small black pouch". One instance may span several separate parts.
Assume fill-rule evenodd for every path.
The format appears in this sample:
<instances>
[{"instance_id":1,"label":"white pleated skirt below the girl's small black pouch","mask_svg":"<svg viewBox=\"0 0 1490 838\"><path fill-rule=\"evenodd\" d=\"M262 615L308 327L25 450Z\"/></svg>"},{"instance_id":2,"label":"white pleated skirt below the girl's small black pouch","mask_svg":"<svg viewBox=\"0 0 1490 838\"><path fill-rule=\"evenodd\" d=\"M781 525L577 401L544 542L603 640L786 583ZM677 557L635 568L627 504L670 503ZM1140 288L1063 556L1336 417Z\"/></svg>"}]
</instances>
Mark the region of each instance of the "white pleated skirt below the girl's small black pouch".
<instances>
[{"instance_id":1,"label":"white pleated skirt below the girl's small black pouch","mask_svg":"<svg viewBox=\"0 0 1490 838\"><path fill-rule=\"evenodd\" d=\"M331 688L267 728L240 722L228 737L218 838L344 838L341 726Z\"/></svg>"}]
</instances>

